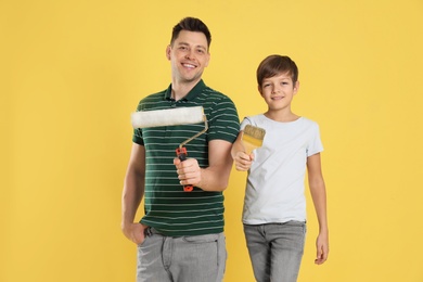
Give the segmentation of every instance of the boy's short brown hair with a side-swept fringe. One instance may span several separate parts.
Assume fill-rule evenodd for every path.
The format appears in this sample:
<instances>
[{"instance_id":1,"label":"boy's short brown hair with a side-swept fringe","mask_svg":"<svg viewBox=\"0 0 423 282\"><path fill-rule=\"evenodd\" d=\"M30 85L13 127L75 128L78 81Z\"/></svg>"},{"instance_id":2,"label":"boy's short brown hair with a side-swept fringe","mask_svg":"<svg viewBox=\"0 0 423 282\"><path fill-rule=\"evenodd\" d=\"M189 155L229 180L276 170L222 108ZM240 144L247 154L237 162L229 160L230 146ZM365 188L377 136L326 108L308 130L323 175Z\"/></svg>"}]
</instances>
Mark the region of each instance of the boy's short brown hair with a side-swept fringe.
<instances>
[{"instance_id":1,"label":"boy's short brown hair with a side-swept fringe","mask_svg":"<svg viewBox=\"0 0 423 282\"><path fill-rule=\"evenodd\" d=\"M291 57L286 55L269 55L258 65L257 84L261 87L265 78L273 77L280 74L291 76L293 84L298 80L298 67Z\"/></svg>"}]
</instances>

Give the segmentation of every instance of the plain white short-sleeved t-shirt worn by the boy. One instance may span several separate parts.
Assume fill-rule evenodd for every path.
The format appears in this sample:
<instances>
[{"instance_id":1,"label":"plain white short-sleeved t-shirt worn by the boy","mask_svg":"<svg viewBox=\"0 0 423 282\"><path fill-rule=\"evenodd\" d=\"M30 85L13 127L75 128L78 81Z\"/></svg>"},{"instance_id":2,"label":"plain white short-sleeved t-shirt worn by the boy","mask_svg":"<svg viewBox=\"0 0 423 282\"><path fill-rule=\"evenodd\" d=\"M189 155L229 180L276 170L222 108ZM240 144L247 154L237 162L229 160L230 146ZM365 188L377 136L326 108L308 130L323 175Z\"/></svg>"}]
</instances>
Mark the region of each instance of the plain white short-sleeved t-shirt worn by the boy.
<instances>
[{"instance_id":1,"label":"plain white short-sleeved t-shirt worn by the boy","mask_svg":"<svg viewBox=\"0 0 423 282\"><path fill-rule=\"evenodd\" d=\"M248 170L243 222L306 221L307 157L323 151L318 124L305 117L280 123L264 114L244 118L241 129L248 124L266 134Z\"/></svg>"}]
</instances>

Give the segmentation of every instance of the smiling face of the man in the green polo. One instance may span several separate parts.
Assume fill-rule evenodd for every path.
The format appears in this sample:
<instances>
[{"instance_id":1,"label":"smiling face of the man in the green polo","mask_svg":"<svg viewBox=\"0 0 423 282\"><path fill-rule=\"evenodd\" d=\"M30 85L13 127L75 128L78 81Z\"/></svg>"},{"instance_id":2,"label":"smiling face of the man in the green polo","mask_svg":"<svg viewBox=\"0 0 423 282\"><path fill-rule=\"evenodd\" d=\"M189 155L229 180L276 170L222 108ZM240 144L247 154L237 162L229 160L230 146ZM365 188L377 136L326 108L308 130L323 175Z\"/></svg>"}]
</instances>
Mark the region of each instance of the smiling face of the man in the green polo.
<instances>
[{"instance_id":1,"label":"smiling face of the man in the green polo","mask_svg":"<svg viewBox=\"0 0 423 282\"><path fill-rule=\"evenodd\" d=\"M177 82L196 84L210 59L206 36L203 33L181 30L174 44L167 47L166 55Z\"/></svg>"}]
</instances>

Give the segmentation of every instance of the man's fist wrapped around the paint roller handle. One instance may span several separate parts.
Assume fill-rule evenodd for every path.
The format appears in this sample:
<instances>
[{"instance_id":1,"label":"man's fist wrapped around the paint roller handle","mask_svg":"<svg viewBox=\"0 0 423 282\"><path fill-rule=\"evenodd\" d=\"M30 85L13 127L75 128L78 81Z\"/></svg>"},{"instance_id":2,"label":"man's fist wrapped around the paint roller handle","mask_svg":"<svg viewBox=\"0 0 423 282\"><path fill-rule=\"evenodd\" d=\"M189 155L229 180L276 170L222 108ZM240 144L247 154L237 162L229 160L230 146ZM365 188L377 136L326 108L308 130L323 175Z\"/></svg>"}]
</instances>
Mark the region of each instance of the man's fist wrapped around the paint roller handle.
<instances>
[{"instance_id":1,"label":"man's fist wrapped around the paint roller handle","mask_svg":"<svg viewBox=\"0 0 423 282\"><path fill-rule=\"evenodd\" d=\"M181 185L198 185L202 180L202 174L198 162L195 158L187 158L181 162L178 157L176 157L174 158L174 165L177 168Z\"/></svg>"}]
</instances>

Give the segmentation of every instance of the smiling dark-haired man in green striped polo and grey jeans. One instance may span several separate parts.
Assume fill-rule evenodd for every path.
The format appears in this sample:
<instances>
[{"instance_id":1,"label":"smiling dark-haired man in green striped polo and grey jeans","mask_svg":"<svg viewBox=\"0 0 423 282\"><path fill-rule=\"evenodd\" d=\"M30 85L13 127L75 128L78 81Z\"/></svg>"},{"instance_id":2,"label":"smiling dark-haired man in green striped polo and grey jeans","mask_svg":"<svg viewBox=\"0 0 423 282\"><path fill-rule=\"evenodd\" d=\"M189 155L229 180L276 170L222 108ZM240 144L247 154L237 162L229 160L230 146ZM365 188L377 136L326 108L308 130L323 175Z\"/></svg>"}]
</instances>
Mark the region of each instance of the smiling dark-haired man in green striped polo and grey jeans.
<instances>
[{"instance_id":1,"label":"smiling dark-haired man in green striped polo and grey jeans","mask_svg":"<svg viewBox=\"0 0 423 282\"><path fill-rule=\"evenodd\" d=\"M223 195L239 132L233 102L202 80L211 41L207 26L187 17L172 29L166 56L171 85L141 100L138 111L203 106L207 132L178 145L204 125L136 129L123 192L124 234L138 244L137 281L221 281L226 266ZM182 185L193 185L184 192ZM141 200L144 213L133 222Z\"/></svg>"}]
</instances>

